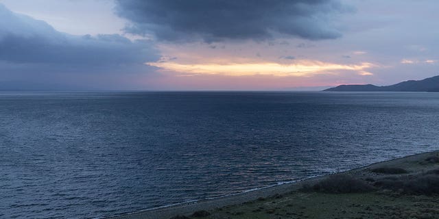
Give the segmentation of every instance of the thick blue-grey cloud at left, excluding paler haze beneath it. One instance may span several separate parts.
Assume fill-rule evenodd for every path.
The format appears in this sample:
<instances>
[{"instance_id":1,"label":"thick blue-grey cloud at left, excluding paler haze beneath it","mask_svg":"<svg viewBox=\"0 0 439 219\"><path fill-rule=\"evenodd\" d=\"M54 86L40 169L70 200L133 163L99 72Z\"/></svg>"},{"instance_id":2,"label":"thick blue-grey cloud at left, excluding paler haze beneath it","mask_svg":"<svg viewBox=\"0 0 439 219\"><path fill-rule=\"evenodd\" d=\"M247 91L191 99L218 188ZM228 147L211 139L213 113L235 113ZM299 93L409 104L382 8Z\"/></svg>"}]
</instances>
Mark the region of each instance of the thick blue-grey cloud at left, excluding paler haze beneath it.
<instances>
[{"instance_id":1,"label":"thick blue-grey cloud at left, excluding paler haze beneath it","mask_svg":"<svg viewBox=\"0 0 439 219\"><path fill-rule=\"evenodd\" d=\"M152 43L123 36L73 36L44 21L15 14L0 4L0 61L16 64L74 66L91 73L93 67L142 64L158 58ZM34 69L38 71L38 69Z\"/></svg>"}]
</instances>

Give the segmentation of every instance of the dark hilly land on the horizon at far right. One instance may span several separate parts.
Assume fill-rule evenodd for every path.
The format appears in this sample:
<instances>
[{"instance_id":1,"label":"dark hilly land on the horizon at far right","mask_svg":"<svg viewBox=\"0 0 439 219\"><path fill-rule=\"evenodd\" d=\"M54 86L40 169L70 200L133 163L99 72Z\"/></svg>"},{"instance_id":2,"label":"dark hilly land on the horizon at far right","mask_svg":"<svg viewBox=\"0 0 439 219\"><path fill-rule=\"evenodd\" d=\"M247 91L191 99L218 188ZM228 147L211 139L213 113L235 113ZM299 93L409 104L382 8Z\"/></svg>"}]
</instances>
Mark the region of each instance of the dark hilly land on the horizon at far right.
<instances>
[{"instance_id":1,"label":"dark hilly land on the horizon at far right","mask_svg":"<svg viewBox=\"0 0 439 219\"><path fill-rule=\"evenodd\" d=\"M340 85L335 88L328 88L323 91L402 91L402 92L439 92L439 75L429 77L420 81L403 81L391 86L364 85Z\"/></svg>"}]
</instances>

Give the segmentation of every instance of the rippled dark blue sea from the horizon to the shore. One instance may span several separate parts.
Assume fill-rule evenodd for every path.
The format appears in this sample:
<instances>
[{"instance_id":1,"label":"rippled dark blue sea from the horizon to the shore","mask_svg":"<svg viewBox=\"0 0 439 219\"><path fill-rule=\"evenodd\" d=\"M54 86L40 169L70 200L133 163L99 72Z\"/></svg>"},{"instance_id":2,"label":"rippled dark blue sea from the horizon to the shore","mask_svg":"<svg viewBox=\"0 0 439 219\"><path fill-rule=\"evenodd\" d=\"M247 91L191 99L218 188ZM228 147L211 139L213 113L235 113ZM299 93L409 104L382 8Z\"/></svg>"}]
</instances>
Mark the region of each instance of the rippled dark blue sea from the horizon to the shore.
<instances>
[{"instance_id":1,"label":"rippled dark blue sea from the horizon to the shore","mask_svg":"<svg viewBox=\"0 0 439 219\"><path fill-rule=\"evenodd\" d=\"M439 93L0 92L0 218L96 218L439 149Z\"/></svg>"}]
</instances>

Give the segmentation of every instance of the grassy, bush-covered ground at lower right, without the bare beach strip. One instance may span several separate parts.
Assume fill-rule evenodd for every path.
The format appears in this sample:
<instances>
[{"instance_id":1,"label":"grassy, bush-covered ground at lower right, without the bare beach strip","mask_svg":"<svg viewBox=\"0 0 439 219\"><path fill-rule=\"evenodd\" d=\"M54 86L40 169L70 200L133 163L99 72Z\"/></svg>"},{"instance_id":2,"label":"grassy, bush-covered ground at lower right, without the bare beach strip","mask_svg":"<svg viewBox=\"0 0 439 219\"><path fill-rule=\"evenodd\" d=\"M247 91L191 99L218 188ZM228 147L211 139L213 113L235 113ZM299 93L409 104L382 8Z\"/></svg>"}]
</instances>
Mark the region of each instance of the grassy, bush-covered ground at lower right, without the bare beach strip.
<instances>
[{"instance_id":1,"label":"grassy, bush-covered ground at lower right, without the bare beach strip","mask_svg":"<svg viewBox=\"0 0 439 219\"><path fill-rule=\"evenodd\" d=\"M332 175L305 182L302 190L173 219L439 219L439 157L432 155Z\"/></svg>"}]
</instances>

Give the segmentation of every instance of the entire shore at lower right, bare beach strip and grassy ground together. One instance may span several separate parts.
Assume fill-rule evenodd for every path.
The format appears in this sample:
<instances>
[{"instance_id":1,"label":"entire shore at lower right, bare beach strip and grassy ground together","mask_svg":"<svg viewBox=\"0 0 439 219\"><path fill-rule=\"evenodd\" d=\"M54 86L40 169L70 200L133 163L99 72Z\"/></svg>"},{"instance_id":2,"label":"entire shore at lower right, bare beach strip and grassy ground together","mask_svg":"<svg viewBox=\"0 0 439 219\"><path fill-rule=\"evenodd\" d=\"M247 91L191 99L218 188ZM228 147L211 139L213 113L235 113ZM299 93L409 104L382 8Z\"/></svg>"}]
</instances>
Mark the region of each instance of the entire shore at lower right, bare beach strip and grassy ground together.
<instances>
[{"instance_id":1,"label":"entire shore at lower right, bare beach strip and grassy ground together","mask_svg":"<svg viewBox=\"0 0 439 219\"><path fill-rule=\"evenodd\" d=\"M439 218L439 151L191 203L110 217ZM420 188L418 188L418 186Z\"/></svg>"}]
</instances>

